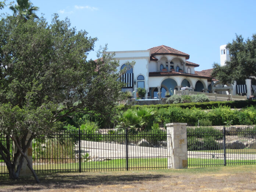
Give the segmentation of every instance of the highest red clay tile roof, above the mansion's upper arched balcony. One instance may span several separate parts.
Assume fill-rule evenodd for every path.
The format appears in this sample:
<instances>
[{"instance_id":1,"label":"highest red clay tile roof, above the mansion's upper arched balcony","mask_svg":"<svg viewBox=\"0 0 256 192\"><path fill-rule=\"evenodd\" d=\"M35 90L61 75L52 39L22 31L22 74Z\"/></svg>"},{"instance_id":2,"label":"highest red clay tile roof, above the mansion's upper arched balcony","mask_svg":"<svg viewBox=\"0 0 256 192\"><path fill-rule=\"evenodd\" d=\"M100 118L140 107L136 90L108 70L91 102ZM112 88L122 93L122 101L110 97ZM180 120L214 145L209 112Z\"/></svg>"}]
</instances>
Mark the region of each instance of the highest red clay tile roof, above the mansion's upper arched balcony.
<instances>
[{"instance_id":1,"label":"highest red clay tile roof, above the mansion's upper arched balcony","mask_svg":"<svg viewBox=\"0 0 256 192\"><path fill-rule=\"evenodd\" d=\"M150 50L151 55L171 54L171 55L177 55L177 56L185 56L186 59L189 59L189 54L183 53L171 47L167 47L165 45L152 47L148 50Z\"/></svg>"}]
</instances>

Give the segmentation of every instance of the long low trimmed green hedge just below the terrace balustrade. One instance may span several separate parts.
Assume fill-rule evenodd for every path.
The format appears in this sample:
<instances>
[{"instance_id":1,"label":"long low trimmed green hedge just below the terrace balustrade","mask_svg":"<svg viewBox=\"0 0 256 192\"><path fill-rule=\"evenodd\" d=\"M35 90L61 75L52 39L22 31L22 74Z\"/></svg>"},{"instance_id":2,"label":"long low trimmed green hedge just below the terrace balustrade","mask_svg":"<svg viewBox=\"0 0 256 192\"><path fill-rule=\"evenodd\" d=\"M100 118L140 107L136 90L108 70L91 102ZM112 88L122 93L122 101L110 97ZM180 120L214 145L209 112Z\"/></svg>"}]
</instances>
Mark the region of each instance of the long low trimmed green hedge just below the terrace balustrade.
<instances>
[{"instance_id":1,"label":"long low trimmed green hedge just below the terrace balustrade","mask_svg":"<svg viewBox=\"0 0 256 192\"><path fill-rule=\"evenodd\" d=\"M218 106L228 106L232 109L234 108L244 108L246 106L256 106L256 100L242 100L242 101L217 101L217 102L203 102L203 103L178 103L178 104L157 104L157 105L134 105L131 106L132 109L137 109L140 107L153 107L153 108L167 108L167 107L173 107L173 106L179 106L181 108L187 108L187 107L196 107L201 109L209 109L212 107L218 107ZM122 106L120 106L122 108Z\"/></svg>"}]
</instances>

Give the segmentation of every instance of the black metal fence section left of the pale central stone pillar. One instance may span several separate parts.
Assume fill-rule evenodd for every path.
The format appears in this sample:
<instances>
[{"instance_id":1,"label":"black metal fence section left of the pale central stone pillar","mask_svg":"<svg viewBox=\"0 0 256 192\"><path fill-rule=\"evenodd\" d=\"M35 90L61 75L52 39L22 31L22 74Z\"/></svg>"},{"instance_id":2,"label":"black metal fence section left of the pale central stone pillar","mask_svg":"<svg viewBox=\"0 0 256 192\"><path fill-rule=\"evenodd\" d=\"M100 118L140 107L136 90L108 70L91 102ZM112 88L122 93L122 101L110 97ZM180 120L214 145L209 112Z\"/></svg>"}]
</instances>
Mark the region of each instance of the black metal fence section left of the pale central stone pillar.
<instances>
[{"instance_id":1,"label":"black metal fence section left of the pale central stone pillar","mask_svg":"<svg viewBox=\"0 0 256 192\"><path fill-rule=\"evenodd\" d=\"M37 173L167 168L166 131L80 130L38 136L32 141ZM0 175L8 174L4 163Z\"/></svg>"}]
</instances>

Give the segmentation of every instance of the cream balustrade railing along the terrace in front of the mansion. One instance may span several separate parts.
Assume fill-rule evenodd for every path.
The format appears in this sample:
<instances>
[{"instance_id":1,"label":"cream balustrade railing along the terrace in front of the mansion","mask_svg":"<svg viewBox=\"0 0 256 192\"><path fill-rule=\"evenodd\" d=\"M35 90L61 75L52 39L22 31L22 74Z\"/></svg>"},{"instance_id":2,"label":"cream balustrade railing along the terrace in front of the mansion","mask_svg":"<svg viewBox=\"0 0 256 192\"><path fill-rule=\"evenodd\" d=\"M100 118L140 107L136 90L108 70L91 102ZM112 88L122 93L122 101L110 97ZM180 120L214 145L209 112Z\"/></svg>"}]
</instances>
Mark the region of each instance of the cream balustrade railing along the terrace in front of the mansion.
<instances>
[{"instance_id":1,"label":"cream balustrade railing along the terrace in front of the mansion","mask_svg":"<svg viewBox=\"0 0 256 192\"><path fill-rule=\"evenodd\" d=\"M198 95L198 94L204 94L206 95L211 101L240 101L240 100L246 100L246 96L239 96L239 95L224 95L224 94L218 94L218 93L205 93L205 92L195 92L195 91L189 91L189 90L174 90L174 95Z\"/></svg>"}]
</instances>

